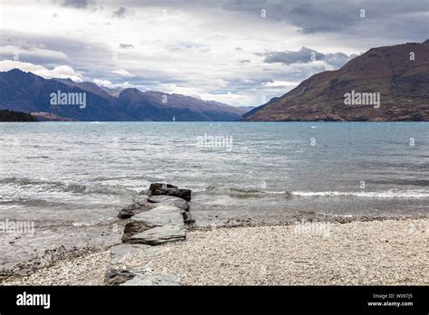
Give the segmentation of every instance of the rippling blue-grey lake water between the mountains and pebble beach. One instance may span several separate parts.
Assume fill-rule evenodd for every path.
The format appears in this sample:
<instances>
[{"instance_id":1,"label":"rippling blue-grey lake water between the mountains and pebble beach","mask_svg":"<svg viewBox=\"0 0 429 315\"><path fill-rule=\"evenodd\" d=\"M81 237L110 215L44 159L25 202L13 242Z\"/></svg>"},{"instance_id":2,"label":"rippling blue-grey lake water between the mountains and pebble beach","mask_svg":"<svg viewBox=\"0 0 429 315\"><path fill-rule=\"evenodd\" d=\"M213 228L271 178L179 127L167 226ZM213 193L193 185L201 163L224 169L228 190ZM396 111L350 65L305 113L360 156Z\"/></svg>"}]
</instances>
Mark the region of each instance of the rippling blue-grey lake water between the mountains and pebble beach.
<instances>
[{"instance_id":1,"label":"rippling blue-grey lake water between the mountains and pebble beach","mask_svg":"<svg viewBox=\"0 0 429 315\"><path fill-rule=\"evenodd\" d=\"M0 146L0 220L35 225L0 266L117 242L152 182L192 189L200 225L429 211L427 122L0 123Z\"/></svg>"}]
</instances>

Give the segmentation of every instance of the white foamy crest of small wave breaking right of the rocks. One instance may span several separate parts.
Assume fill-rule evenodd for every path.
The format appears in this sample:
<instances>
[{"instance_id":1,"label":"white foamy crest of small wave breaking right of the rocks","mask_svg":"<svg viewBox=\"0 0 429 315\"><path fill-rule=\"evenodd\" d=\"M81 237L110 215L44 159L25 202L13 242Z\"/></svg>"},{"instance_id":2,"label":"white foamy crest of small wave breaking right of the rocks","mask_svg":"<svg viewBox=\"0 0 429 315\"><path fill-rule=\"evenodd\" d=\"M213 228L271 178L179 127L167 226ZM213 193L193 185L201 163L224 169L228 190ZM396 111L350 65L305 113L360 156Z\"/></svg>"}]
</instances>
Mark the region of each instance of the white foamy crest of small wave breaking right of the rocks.
<instances>
[{"instance_id":1,"label":"white foamy crest of small wave breaking right of the rocks","mask_svg":"<svg viewBox=\"0 0 429 315\"><path fill-rule=\"evenodd\" d=\"M292 196L358 196L363 198L428 198L427 190L387 190L373 192L353 192L353 191L294 191Z\"/></svg>"}]
</instances>

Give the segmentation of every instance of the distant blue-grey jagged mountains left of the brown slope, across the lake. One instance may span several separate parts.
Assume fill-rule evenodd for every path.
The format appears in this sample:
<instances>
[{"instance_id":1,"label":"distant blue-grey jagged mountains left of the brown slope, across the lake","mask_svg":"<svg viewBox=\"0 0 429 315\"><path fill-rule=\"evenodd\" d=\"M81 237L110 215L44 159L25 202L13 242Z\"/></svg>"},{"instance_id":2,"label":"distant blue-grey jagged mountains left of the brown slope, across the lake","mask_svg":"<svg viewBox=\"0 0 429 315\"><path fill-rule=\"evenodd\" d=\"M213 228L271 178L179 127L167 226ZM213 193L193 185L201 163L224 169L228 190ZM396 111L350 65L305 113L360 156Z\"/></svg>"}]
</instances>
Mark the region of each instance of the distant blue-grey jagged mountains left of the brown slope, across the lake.
<instances>
[{"instance_id":1,"label":"distant blue-grey jagged mountains left of the brown slope, across the lake","mask_svg":"<svg viewBox=\"0 0 429 315\"><path fill-rule=\"evenodd\" d=\"M108 90L106 90L108 89ZM51 105L51 94L80 93L81 104ZM116 93L116 96L115 96ZM84 94L84 98L83 98ZM69 95L69 94L68 94ZM60 100L59 95L59 100ZM125 89L110 91L91 82L44 79L32 72L0 72L0 110L39 113L42 119L134 121L236 120L245 112L215 101L180 94Z\"/></svg>"}]
</instances>

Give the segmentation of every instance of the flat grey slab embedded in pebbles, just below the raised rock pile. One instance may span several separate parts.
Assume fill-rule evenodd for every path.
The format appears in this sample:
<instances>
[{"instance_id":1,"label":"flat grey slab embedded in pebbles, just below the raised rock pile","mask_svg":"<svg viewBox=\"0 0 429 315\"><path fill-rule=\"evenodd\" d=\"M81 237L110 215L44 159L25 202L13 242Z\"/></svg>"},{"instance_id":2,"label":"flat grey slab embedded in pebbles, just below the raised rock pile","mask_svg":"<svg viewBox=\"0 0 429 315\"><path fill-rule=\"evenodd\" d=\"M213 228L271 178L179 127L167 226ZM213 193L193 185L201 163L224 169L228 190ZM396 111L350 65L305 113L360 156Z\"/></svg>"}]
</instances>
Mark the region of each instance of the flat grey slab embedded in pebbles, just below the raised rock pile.
<instances>
[{"instance_id":1,"label":"flat grey slab embedded in pebbles, just below the raised rock pile","mask_svg":"<svg viewBox=\"0 0 429 315\"><path fill-rule=\"evenodd\" d=\"M140 267L146 265L158 251L156 246L146 244L115 245L110 248L110 266L122 270Z\"/></svg>"}]
</instances>

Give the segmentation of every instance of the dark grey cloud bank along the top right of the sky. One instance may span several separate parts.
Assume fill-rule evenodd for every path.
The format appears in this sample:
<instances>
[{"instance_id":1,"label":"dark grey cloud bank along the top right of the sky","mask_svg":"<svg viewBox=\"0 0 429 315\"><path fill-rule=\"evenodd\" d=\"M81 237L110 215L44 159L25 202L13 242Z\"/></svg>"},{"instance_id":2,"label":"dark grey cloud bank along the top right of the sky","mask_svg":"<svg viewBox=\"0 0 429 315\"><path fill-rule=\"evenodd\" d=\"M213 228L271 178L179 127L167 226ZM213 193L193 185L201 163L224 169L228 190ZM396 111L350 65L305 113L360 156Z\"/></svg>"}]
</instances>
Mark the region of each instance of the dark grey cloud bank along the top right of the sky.
<instances>
[{"instance_id":1,"label":"dark grey cloud bank along the top right of the sky","mask_svg":"<svg viewBox=\"0 0 429 315\"><path fill-rule=\"evenodd\" d=\"M344 0L130 0L129 5L180 7L184 10L201 7L222 8L237 14L246 14L253 19L261 19L261 10L266 10L266 19L287 23L300 28L300 33L348 33L358 36L370 34L381 37L389 34L397 39L400 34L416 42L427 37L428 12L426 1L390 0L390 1L344 1ZM359 16L360 10L366 10L366 17ZM409 20L412 23L402 23ZM374 25L377 24L377 32ZM387 28L386 24L392 24ZM367 36L366 36L367 37Z\"/></svg>"}]
</instances>

